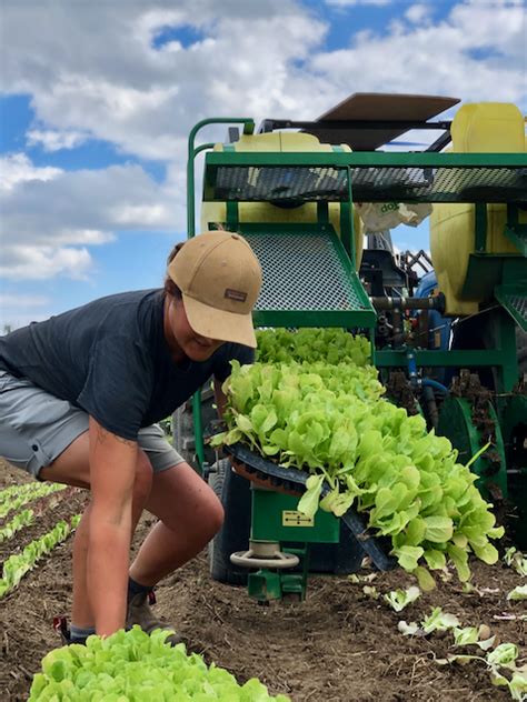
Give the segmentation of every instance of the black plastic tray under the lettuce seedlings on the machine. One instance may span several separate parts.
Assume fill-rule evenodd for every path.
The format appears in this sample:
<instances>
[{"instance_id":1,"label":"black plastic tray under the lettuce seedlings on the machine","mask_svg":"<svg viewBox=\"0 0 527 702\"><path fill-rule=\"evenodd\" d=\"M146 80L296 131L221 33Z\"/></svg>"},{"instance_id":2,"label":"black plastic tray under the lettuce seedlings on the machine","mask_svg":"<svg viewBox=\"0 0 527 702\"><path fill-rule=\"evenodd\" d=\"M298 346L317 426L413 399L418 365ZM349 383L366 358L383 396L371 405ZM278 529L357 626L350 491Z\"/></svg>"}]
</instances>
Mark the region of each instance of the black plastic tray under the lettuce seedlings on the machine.
<instances>
[{"instance_id":1,"label":"black plastic tray under the lettuce seedlings on the machine","mask_svg":"<svg viewBox=\"0 0 527 702\"><path fill-rule=\"evenodd\" d=\"M270 489L274 487L282 488L290 492L298 492L299 495L306 491L306 481L309 478L309 473L306 471L282 468L272 461L264 459L242 443L223 447L223 451L230 454L237 463L242 463L249 473L256 473L260 480L268 480ZM324 481L321 497L324 498L330 491L331 488ZM367 533L361 518L352 507L340 519L346 523L349 531L357 539L357 543L369 555L376 568L387 571L396 566L396 559L386 553L386 549L382 546L379 538Z\"/></svg>"}]
</instances>

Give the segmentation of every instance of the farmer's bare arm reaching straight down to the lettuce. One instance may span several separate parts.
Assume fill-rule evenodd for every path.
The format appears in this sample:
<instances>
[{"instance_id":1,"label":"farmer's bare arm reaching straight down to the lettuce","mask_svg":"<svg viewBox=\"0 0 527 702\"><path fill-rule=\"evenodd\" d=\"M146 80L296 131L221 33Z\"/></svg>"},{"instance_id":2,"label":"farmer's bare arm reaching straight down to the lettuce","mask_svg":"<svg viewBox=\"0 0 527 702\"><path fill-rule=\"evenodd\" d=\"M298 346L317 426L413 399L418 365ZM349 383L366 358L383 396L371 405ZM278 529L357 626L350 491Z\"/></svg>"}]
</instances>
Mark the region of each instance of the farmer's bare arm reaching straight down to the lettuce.
<instances>
[{"instance_id":1,"label":"farmer's bare arm reaching straight down to the lettuce","mask_svg":"<svg viewBox=\"0 0 527 702\"><path fill-rule=\"evenodd\" d=\"M126 623L131 505L138 445L90 417L91 514L88 591L96 631L109 635Z\"/></svg>"}]
</instances>

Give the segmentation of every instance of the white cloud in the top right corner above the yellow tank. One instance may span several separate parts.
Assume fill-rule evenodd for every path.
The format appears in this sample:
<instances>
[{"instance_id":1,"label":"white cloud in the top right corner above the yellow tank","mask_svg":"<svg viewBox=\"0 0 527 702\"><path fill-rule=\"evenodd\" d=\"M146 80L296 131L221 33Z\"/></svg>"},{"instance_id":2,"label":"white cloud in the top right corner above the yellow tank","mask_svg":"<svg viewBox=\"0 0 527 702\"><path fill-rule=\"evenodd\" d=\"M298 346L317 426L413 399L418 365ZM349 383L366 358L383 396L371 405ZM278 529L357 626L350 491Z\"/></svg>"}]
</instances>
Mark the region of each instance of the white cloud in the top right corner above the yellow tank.
<instances>
[{"instance_id":1,"label":"white cloud in the top right corner above the yellow tank","mask_svg":"<svg viewBox=\"0 0 527 702\"><path fill-rule=\"evenodd\" d=\"M351 48L319 52L309 68L350 92L446 94L527 106L525 8L461 2L436 24L397 19L388 36L365 31ZM484 58L481 58L484 57Z\"/></svg>"}]
</instances>

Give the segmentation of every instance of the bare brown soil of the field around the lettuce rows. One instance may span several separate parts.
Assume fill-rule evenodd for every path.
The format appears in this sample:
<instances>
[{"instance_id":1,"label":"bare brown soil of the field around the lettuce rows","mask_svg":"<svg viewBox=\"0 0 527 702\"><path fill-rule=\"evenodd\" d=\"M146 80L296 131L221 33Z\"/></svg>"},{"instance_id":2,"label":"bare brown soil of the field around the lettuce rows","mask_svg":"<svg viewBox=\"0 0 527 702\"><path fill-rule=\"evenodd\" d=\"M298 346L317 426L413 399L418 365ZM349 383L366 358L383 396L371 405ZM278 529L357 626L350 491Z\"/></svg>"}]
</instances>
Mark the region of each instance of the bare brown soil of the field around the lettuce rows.
<instances>
[{"instance_id":1,"label":"bare brown soil of the field around the lettuce rows","mask_svg":"<svg viewBox=\"0 0 527 702\"><path fill-rule=\"evenodd\" d=\"M24 481L20 471L0 463L0 489ZM21 550L60 517L79 512L84 500L78 491L67 504L42 515L38 528L21 531L10 542L10 552ZM151 521L142 520L136 544ZM3 548L2 558L7 551ZM0 601L1 702L27 700L40 659L60 644L51 622L53 615L69 611L70 565L71 539ZM521 579L501 565L473 563L473 571L480 594L464 594L451 580L400 614L366 596L362 585L346 576L314 576L306 602L264 608L249 600L243 588L210 580L202 554L159 585L156 609L208 661L227 668L240 682L257 675L271 693L289 694L292 702L508 700L508 692L490 684L483 664L435 662L453 652L451 634L407 638L397 631L400 619L419 621L440 605L465 626L488 624L500 642L518 644L525 659L527 622L501 619L526 612L525 601L506 601ZM364 571L368 572L372 571ZM371 584L388 592L411 581L395 571L377 574Z\"/></svg>"}]
</instances>

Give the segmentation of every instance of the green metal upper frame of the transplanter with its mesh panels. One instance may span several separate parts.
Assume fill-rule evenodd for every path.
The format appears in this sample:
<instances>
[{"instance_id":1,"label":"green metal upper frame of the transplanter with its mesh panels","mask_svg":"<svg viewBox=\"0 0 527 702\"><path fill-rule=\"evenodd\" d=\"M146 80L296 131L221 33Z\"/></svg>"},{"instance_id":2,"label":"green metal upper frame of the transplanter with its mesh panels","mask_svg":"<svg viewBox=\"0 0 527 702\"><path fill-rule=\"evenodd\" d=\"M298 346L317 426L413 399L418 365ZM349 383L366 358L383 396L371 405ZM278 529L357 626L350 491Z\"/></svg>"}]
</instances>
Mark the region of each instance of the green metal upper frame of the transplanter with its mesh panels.
<instances>
[{"instance_id":1,"label":"green metal upper frame of the transplanter with its mesh panels","mask_svg":"<svg viewBox=\"0 0 527 702\"><path fill-rule=\"evenodd\" d=\"M476 287L481 275L496 274L496 298L508 314L499 324L498 348L474 351L412 350L418 367L496 367L500 391L517 381L514 322L524 329L526 319L527 227L518 209L527 204L527 153L437 152L264 152L236 151L231 144L212 151L212 143L195 146L197 133L212 124L242 124L255 132L251 118L211 118L196 124L189 136L187 167L188 237L196 233L195 160L205 156L202 200L226 202L227 229L240 231L257 250L266 280L255 311L259 327L344 327L369 332L374 339L376 313L356 272L351 208L355 202L458 202L475 203L483 221L485 203L507 203L505 233L519 257L486 253L486 228L476 231L476 250L467 284ZM239 222L239 202L271 202L282 207L316 202L318 223L277 224ZM328 221L328 203L340 203L340 238ZM321 251L324 273L315 265ZM499 258L499 257L498 257ZM488 259L488 261L487 261ZM494 268L493 268L494 267ZM314 272L315 271L315 272ZM487 271L487 272L486 272ZM490 271L490 273L489 273ZM324 280L324 285L317 284ZM318 298L318 288L331 289L334 298ZM300 294L299 290L302 289ZM326 291L325 291L326 294ZM322 295L324 297L324 295ZM408 349L376 351L379 368L407 368ZM195 395L197 458L203 464L200 399ZM501 408L498 408L498 412Z\"/></svg>"}]
</instances>

